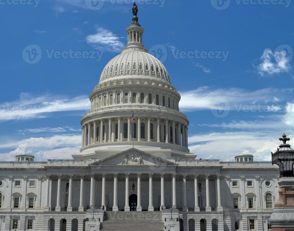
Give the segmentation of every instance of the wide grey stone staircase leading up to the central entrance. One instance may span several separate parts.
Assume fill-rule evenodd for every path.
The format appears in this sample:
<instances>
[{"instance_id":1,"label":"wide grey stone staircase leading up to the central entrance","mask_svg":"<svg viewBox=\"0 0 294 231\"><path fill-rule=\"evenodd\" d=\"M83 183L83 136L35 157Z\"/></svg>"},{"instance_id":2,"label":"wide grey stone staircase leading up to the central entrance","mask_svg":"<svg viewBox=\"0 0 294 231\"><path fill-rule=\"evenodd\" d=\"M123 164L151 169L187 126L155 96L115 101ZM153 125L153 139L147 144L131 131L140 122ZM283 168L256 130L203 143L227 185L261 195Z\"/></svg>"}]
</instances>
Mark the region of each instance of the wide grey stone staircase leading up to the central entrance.
<instances>
[{"instance_id":1,"label":"wide grey stone staircase leading up to the central entrance","mask_svg":"<svg viewBox=\"0 0 294 231\"><path fill-rule=\"evenodd\" d=\"M105 212L103 231L163 231L161 212Z\"/></svg>"}]
</instances>

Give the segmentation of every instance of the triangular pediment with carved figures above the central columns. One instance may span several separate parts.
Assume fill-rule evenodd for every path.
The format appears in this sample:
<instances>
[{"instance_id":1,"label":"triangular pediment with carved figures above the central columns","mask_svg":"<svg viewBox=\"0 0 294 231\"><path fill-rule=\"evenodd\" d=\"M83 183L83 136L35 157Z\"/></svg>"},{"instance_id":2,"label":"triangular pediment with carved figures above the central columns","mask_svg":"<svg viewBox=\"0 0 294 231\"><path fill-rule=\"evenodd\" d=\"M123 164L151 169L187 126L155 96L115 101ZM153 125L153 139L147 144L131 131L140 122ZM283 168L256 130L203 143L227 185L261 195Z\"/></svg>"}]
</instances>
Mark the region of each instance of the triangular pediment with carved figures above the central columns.
<instances>
[{"instance_id":1,"label":"triangular pediment with carved figures above the central columns","mask_svg":"<svg viewBox=\"0 0 294 231\"><path fill-rule=\"evenodd\" d=\"M143 152L136 148L131 148L118 154L106 157L104 159L98 160L89 164L91 165L122 165L122 166L131 166L131 165L171 165L177 166L178 164L162 159L161 157L156 157L147 152Z\"/></svg>"}]
</instances>

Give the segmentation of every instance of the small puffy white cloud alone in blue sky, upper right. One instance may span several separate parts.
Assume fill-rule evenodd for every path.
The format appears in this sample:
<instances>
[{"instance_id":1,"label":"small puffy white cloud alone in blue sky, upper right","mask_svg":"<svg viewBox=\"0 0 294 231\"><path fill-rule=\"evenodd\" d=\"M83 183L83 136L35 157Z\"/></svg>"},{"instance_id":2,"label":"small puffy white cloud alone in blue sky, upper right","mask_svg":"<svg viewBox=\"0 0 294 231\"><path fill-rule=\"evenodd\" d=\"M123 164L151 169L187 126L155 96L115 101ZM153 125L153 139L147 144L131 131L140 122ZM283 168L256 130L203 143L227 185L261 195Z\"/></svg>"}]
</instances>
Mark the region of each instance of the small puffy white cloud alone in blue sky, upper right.
<instances>
[{"instance_id":1,"label":"small puffy white cloud alone in blue sky, upper right","mask_svg":"<svg viewBox=\"0 0 294 231\"><path fill-rule=\"evenodd\" d=\"M289 58L285 50L273 52L269 48L263 51L260 57L261 63L258 66L254 66L258 74L264 76L265 74L278 74L282 72L288 72L291 69Z\"/></svg>"}]
</instances>

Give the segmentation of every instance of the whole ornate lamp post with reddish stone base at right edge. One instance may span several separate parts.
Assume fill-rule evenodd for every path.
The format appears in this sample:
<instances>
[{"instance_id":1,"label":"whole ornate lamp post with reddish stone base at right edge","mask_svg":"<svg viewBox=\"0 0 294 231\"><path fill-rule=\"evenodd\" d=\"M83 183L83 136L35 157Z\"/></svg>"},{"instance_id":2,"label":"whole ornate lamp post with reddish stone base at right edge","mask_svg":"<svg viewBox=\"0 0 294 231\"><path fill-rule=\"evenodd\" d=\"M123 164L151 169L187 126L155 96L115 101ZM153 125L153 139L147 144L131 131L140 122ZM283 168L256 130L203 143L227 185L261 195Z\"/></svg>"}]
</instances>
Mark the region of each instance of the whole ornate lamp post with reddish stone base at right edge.
<instances>
[{"instance_id":1,"label":"whole ornate lamp post with reddish stone base at right edge","mask_svg":"<svg viewBox=\"0 0 294 231\"><path fill-rule=\"evenodd\" d=\"M286 144L290 138L287 138L285 133L279 140L283 141L283 144L279 145L275 153L271 152L272 164L277 164L280 169L280 176L277 176L279 199L270 216L273 231L294 229L294 201L289 200L294 197L294 150L291 145Z\"/></svg>"}]
</instances>

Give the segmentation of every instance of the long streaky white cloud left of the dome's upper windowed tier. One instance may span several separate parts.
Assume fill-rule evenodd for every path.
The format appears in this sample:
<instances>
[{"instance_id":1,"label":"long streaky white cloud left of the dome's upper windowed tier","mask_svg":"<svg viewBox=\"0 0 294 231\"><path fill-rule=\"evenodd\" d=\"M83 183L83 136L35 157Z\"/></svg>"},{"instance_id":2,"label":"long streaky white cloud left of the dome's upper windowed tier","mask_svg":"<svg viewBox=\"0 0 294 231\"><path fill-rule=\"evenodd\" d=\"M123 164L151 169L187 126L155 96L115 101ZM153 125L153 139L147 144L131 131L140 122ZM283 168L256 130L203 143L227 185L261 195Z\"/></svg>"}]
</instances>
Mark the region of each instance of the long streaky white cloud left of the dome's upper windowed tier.
<instances>
[{"instance_id":1,"label":"long streaky white cloud left of the dome's upper windowed tier","mask_svg":"<svg viewBox=\"0 0 294 231\"><path fill-rule=\"evenodd\" d=\"M90 101L86 96L68 98L67 96L32 96L21 93L20 99L0 103L0 121L30 118L44 118L48 113L58 111L88 112Z\"/></svg>"}]
</instances>

